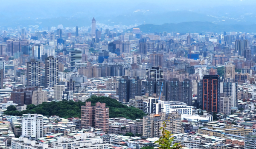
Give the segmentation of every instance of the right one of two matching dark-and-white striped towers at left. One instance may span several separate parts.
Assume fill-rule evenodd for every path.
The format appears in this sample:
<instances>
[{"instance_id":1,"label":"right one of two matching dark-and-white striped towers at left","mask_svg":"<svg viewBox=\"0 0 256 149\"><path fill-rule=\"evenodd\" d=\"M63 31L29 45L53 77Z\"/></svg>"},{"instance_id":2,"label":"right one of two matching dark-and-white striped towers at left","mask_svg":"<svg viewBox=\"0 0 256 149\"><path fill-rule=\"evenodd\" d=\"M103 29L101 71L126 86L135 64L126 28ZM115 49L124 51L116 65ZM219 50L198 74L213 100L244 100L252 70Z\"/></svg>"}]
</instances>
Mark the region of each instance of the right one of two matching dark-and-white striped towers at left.
<instances>
[{"instance_id":1,"label":"right one of two matching dark-and-white striped towers at left","mask_svg":"<svg viewBox=\"0 0 256 149\"><path fill-rule=\"evenodd\" d=\"M49 56L45 59L45 87L53 87L58 83L58 59Z\"/></svg>"}]
</instances>

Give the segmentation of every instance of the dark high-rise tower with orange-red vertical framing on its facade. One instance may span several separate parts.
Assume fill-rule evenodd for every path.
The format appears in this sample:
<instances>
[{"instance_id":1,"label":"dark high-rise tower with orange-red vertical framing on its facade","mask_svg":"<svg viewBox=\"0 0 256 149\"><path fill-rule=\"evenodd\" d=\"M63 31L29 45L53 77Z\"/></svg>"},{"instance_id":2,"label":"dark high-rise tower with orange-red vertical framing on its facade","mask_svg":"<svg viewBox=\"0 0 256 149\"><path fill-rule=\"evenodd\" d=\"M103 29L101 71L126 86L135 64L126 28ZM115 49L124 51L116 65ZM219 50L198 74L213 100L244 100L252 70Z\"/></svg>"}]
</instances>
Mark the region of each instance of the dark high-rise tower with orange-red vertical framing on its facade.
<instances>
[{"instance_id":1,"label":"dark high-rise tower with orange-red vertical framing on its facade","mask_svg":"<svg viewBox=\"0 0 256 149\"><path fill-rule=\"evenodd\" d=\"M218 75L204 75L202 95L203 110L219 112L220 77Z\"/></svg>"}]
</instances>

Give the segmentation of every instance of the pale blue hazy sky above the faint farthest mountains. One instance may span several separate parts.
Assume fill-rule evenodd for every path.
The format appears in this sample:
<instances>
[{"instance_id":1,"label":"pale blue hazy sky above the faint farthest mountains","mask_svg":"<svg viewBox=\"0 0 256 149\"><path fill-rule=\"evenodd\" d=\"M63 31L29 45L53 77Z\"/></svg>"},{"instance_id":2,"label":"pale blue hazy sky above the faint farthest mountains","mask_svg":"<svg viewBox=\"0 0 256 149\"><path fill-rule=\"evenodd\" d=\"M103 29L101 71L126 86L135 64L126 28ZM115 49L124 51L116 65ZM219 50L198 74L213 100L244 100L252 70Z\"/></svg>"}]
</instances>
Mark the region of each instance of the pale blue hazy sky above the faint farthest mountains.
<instances>
[{"instance_id":1,"label":"pale blue hazy sky above the faint farthest mountains","mask_svg":"<svg viewBox=\"0 0 256 149\"><path fill-rule=\"evenodd\" d=\"M94 13L96 16L126 13L133 9L175 11L204 9L219 6L256 4L256 0L0 0L0 13L9 17L59 17L77 13ZM254 11L254 10L252 10ZM104 13L104 14L103 14Z\"/></svg>"}]
</instances>

